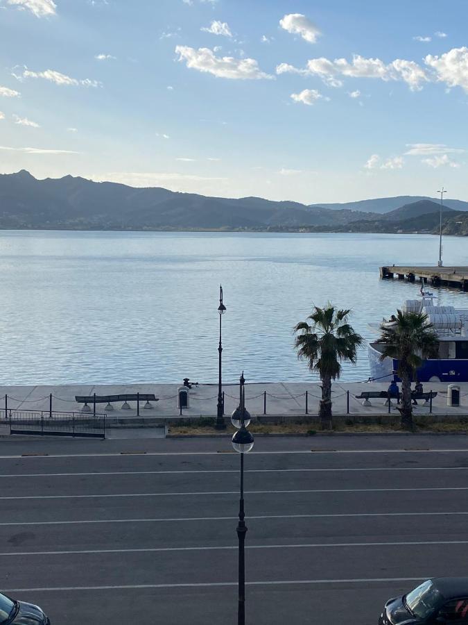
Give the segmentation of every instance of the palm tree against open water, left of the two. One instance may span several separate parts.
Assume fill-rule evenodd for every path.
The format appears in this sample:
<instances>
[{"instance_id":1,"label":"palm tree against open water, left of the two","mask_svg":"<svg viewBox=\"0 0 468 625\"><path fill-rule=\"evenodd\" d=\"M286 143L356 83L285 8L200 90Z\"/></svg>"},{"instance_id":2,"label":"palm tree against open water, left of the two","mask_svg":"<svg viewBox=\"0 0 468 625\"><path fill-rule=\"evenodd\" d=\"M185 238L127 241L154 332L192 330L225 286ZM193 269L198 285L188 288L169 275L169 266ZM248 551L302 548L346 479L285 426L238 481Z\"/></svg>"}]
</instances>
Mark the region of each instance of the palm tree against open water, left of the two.
<instances>
[{"instance_id":1,"label":"palm tree against open water, left of the two","mask_svg":"<svg viewBox=\"0 0 468 625\"><path fill-rule=\"evenodd\" d=\"M326 308L314 306L307 320L294 328L297 358L307 360L309 369L318 372L322 381L322 430L331 429L331 381L340 377L343 360L356 363L356 351L363 342L347 322L349 312L336 310L331 303Z\"/></svg>"}]
</instances>

